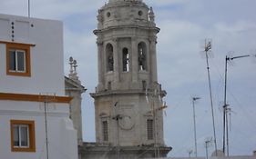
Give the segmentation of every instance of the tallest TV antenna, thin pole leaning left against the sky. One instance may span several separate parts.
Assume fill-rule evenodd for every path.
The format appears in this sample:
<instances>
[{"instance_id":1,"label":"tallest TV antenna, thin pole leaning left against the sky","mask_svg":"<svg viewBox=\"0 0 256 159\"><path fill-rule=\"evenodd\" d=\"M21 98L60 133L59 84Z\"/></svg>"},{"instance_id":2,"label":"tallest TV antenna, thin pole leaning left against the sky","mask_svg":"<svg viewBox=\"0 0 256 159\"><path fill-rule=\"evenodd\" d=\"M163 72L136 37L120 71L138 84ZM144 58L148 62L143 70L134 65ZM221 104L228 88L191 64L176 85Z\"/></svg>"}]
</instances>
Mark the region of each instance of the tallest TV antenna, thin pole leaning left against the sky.
<instances>
[{"instance_id":1,"label":"tallest TV antenna, thin pole leaning left against the sky","mask_svg":"<svg viewBox=\"0 0 256 159\"><path fill-rule=\"evenodd\" d=\"M209 65L209 58L211 56L211 48L212 48L212 40L205 39L204 41L204 55L206 57L206 65L207 65L207 74L208 74L208 83L209 83L209 91L210 91L210 108L211 108L211 118L212 118L212 128L213 128L213 142L215 147L215 153L217 156L217 142L216 142L216 130L215 130L215 119L214 119L214 109L213 109L213 100L212 100L212 91L211 91L211 84L210 84L210 65Z\"/></svg>"}]
</instances>

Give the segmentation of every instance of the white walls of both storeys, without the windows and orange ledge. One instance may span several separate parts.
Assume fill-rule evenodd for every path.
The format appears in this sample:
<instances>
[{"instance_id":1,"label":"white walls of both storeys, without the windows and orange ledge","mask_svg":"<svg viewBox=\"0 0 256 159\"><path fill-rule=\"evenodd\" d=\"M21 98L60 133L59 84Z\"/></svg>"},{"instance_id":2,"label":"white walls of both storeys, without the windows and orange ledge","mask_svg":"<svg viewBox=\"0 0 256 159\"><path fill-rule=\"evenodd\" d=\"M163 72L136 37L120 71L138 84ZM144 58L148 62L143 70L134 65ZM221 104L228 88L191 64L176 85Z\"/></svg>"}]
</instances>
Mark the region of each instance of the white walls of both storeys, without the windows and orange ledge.
<instances>
[{"instance_id":1,"label":"white walls of both storeys, without the windows and orange ledge","mask_svg":"<svg viewBox=\"0 0 256 159\"><path fill-rule=\"evenodd\" d=\"M15 22L15 29L12 29ZM0 93L65 95L63 26L59 21L0 15L0 41L33 44L31 76L6 75L5 44L0 44ZM45 104L0 100L0 158L46 159ZM77 159L77 131L69 104L46 104L49 158ZM36 153L11 152L10 120L35 121Z\"/></svg>"}]
</instances>

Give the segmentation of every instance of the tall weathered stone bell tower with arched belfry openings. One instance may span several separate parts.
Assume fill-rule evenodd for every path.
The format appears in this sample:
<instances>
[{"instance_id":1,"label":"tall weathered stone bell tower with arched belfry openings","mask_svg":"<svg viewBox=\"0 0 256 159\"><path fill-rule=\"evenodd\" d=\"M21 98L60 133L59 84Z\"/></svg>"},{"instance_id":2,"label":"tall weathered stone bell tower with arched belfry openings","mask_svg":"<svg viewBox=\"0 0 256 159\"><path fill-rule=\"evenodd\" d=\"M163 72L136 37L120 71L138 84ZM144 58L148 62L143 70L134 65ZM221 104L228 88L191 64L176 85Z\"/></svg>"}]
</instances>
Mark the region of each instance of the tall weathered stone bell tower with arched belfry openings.
<instances>
[{"instance_id":1,"label":"tall weathered stone bell tower with arched belfry openings","mask_svg":"<svg viewBox=\"0 0 256 159\"><path fill-rule=\"evenodd\" d=\"M154 19L142 0L109 0L98 10L98 84L91 94L96 140L120 155L125 147L137 147L140 157L165 156L170 150L163 139L166 92L158 83Z\"/></svg>"}]
</instances>

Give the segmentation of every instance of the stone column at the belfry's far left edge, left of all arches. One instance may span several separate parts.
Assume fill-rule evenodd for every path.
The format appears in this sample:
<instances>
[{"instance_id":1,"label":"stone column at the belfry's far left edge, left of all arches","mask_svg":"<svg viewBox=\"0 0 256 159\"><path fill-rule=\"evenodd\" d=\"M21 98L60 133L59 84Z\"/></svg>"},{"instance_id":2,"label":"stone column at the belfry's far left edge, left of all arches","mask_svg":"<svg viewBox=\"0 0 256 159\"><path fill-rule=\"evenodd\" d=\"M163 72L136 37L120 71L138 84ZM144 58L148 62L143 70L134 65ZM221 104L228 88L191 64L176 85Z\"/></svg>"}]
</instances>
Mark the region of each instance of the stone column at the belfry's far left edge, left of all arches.
<instances>
[{"instance_id":1,"label":"stone column at the belfry's far left edge, left of all arches","mask_svg":"<svg viewBox=\"0 0 256 159\"><path fill-rule=\"evenodd\" d=\"M104 61L103 61L103 42L101 40L97 40L97 76L98 76L98 84L97 91L103 90L104 88Z\"/></svg>"}]
</instances>

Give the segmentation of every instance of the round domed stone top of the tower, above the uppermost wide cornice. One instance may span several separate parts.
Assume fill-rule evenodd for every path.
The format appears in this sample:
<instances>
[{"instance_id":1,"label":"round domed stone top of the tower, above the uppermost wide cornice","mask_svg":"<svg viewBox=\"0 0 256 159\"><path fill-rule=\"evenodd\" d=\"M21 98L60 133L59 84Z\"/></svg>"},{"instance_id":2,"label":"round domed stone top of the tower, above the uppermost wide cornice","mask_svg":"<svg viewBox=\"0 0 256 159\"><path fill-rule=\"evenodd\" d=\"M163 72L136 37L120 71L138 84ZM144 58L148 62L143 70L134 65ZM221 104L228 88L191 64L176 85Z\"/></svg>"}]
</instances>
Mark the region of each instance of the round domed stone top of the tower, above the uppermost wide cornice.
<instances>
[{"instance_id":1,"label":"round domed stone top of the tower, above the uppermost wide cornice","mask_svg":"<svg viewBox=\"0 0 256 159\"><path fill-rule=\"evenodd\" d=\"M155 26L152 8L142 0L109 0L98 10L97 29L113 26Z\"/></svg>"}]
</instances>

